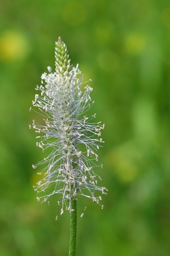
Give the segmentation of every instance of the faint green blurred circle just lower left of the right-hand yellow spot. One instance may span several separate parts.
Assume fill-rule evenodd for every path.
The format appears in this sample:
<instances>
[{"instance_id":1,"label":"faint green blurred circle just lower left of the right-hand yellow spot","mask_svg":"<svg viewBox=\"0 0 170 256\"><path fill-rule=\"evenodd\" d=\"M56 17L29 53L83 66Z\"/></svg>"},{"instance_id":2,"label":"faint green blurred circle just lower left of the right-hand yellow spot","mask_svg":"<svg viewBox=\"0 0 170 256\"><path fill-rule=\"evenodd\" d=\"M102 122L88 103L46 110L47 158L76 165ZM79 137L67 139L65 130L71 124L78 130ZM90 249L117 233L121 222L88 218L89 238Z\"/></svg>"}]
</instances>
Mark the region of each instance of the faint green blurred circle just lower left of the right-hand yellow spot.
<instances>
[{"instance_id":1,"label":"faint green blurred circle just lower left of the right-hand yellow spot","mask_svg":"<svg viewBox=\"0 0 170 256\"><path fill-rule=\"evenodd\" d=\"M111 50L100 52L97 56L97 62L105 72L113 72L120 66L119 56Z\"/></svg>"}]
</instances>

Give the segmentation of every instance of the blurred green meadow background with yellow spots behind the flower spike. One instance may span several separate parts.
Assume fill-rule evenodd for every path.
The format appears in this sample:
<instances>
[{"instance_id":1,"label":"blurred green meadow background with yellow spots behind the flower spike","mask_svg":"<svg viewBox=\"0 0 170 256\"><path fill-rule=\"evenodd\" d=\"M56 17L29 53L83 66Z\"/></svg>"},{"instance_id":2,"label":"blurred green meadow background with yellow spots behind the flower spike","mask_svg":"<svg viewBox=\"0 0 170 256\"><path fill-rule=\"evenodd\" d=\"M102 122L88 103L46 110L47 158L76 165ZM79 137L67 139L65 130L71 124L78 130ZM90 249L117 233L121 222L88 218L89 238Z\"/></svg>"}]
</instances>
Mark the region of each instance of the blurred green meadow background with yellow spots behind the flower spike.
<instances>
[{"instance_id":1,"label":"blurred green meadow background with yellow spots behind the flower spike","mask_svg":"<svg viewBox=\"0 0 170 256\"><path fill-rule=\"evenodd\" d=\"M96 172L109 192L104 210L79 198L77 255L169 256L169 0L0 2L0 255L68 255L68 212L55 221L58 198L36 201L31 165L43 156L29 130L58 36L105 123Z\"/></svg>"}]
</instances>

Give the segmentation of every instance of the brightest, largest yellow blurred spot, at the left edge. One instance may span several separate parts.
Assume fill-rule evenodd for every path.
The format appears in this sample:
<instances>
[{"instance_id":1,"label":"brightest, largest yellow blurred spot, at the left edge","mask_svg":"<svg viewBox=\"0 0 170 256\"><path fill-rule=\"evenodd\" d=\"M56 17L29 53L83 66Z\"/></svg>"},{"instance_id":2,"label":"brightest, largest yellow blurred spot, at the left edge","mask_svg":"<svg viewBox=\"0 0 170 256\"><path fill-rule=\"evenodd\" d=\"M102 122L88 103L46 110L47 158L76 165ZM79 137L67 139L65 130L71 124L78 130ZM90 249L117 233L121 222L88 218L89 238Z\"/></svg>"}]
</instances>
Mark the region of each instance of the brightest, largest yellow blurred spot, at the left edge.
<instances>
[{"instance_id":1,"label":"brightest, largest yellow blurred spot, at the left edge","mask_svg":"<svg viewBox=\"0 0 170 256\"><path fill-rule=\"evenodd\" d=\"M0 59L19 60L26 56L28 44L24 35L17 31L5 31L0 37Z\"/></svg>"}]
</instances>

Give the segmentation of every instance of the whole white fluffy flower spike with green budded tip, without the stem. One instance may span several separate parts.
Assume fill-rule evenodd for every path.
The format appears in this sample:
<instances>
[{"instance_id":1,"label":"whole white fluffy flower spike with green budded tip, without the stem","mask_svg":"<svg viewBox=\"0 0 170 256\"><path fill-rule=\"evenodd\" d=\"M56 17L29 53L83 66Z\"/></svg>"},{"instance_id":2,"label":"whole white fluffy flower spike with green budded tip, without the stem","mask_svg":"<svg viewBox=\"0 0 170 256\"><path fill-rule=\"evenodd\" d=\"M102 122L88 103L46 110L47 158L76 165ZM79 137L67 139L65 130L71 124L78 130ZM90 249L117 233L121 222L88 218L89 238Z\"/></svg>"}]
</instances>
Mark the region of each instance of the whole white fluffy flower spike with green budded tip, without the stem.
<instances>
[{"instance_id":1,"label":"whole white fluffy flower spike with green budded tip, without the stem","mask_svg":"<svg viewBox=\"0 0 170 256\"><path fill-rule=\"evenodd\" d=\"M37 147L43 151L51 148L49 156L33 165L33 168L43 167L38 173L42 179L33 186L37 200L46 202L51 195L61 194L58 204L63 214L64 207L72 211L70 201L77 195L100 204L102 198L95 196L95 191L106 194L107 189L97 186L97 179L101 178L93 171L98 166L97 150L104 142L100 138L104 125L91 122L95 115L85 114L93 104L89 95L93 88L86 85L82 93L83 76L78 65L70 65L66 45L60 37L55 50L55 72L47 67L49 74L42 74L42 84L36 86L40 93L33 100L33 106L43 116L43 124L33 120L29 128L37 132Z\"/></svg>"}]
</instances>

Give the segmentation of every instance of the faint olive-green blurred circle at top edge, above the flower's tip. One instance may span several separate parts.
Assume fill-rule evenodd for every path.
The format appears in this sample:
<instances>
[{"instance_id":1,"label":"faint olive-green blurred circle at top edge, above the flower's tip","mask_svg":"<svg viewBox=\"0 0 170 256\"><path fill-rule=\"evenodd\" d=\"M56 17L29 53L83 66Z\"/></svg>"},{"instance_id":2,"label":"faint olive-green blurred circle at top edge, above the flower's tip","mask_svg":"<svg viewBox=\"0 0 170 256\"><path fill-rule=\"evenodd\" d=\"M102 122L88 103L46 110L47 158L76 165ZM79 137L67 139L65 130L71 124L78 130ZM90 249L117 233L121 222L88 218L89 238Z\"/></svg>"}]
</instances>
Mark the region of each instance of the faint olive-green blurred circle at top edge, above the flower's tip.
<instances>
[{"instance_id":1,"label":"faint olive-green blurred circle at top edge, above the flower's tip","mask_svg":"<svg viewBox=\"0 0 170 256\"><path fill-rule=\"evenodd\" d=\"M63 19L66 23L77 26L86 19L86 8L84 4L69 1L63 8Z\"/></svg>"}]
</instances>

